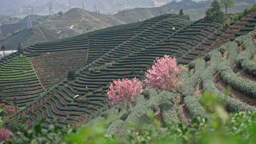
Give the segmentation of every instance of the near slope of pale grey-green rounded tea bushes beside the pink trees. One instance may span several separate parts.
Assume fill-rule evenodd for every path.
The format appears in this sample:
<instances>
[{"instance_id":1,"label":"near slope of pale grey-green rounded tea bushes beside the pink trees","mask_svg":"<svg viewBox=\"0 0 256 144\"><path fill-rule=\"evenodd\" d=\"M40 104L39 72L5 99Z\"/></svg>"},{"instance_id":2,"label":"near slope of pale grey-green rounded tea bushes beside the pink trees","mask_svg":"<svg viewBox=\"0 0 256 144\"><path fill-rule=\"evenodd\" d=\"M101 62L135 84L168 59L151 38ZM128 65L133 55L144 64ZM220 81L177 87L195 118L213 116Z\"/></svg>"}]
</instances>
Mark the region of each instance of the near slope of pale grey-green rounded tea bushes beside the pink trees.
<instances>
[{"instance_id":1,"label":"near slope of pale grey-green rounded tea bushes beside the pink trees","mask_svg":"<svg viewBox=\"0 0 256 144\"><path fill-rule=\"evenodd\" d=\"M155 89L144 89L142 94L135 97L131 114L125 110L116 113L115 107L105 108L96 113L86 125L97 125L101 120L106 120L107 133L126 135L128 123L143 120L142 127L153 126L147 117L148 111L156 112L156 118L166 125L179 121L191 125L193 118L211 117L211 113L205 109L207 107L202 101L202 95L199 95L202 91L211 92L213 98L224 104L229 112L256 111L256 79L255 73L252 73L256 66L252 61L256 54L255 36L256 30L222 45L204 58L192 61L182 76L183 86L180 90L183 96L168 91L158 93ZM237 71L244 73L242 75ZM230 93L226 93L228 86L231 86Z\"/></svg>"}]
</instances>

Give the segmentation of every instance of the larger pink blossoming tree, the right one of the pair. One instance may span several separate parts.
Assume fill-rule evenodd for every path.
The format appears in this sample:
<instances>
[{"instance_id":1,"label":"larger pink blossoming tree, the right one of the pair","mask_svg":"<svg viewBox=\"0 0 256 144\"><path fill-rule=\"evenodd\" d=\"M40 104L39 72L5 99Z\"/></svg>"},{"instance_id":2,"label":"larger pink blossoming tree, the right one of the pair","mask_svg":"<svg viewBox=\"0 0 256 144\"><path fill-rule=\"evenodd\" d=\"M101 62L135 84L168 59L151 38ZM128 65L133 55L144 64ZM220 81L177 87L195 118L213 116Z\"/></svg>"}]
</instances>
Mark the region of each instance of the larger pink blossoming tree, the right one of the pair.
<instances>
[{"instance_id":1,"label":"larger pink blossoming tree, the right one of the pair","mask_svg":"<svg viewBox=\"0 0 256 144\"><path fill-rule=\"evenodd\" d=\"M177 92L182 85L180 75L185 70L185 67L177 66L175 58L165 55L155 61L152 70L147 70L145 85L147 88Z\"/></svg>"}]
</instances>

